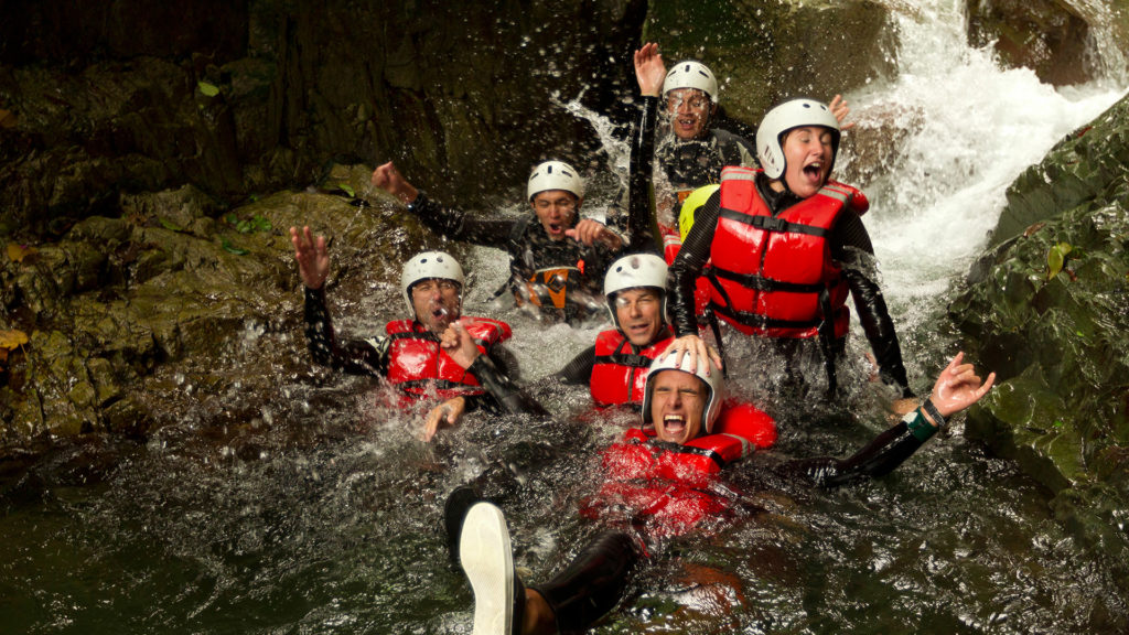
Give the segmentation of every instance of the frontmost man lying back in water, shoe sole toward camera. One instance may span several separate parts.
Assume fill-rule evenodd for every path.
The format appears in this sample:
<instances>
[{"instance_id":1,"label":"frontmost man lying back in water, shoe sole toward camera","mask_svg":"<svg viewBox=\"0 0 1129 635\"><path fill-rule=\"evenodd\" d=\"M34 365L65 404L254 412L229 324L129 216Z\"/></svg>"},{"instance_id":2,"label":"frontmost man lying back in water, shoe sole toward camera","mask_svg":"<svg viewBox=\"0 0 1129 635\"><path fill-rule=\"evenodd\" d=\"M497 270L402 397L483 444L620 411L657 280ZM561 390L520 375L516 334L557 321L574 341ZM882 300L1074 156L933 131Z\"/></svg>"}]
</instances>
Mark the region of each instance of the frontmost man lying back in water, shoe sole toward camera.
<instances>
[{"instance_id":1,"label":"frontmost man lying back in water, shoe sole toward camera","mask_svg":"<svg viewBox=\"0 0 1129 635\"><path fill-rule=\"evenodd\" d=\"M481 357L474 357L463 340L457 325L444 334L444 346L453 356L474 368ZM774 427L754 424L734 435L719 421L724 409L720 373L706 372L710 364L706 356L698 357L694 365L690 362L682 355L655 360L647 376L644 427L629 432L623 442L604 453L609 480L596 497L598 502L581 511L602 519L607 510L633 507L627 512L629 527L597 534L548 582L526 588L517 576L500 507L465 487L452 494L445 506L445 527L452 538L457 536L454 548L474 592L473 633L584 630L619 603L632 568L644 554L655 550L649 543L689 532L727 508L728 499L715 495L708 485L726 466L752 454L751 446L771 444ZM981 382L972 365L962 362L963 354L957 354L920 407L855 455L846 460L804 459L786 463L781 471L803 475L825 487L889 473L947 418L991 389L995 373Z\"/></svg>"}]
</instances>

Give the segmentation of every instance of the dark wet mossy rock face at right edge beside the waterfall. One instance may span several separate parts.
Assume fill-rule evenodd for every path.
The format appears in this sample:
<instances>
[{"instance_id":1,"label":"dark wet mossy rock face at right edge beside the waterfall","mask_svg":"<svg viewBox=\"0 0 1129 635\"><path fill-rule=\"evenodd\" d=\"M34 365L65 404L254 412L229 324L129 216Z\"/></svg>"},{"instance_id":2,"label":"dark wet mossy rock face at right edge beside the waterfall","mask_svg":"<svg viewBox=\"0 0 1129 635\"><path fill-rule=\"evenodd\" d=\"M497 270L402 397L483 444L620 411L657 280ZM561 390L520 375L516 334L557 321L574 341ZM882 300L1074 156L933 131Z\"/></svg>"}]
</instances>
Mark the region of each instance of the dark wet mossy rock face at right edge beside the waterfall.
<instances>
[{"instance_id":1,"label":"dark wet mossy rock face at right edge beside the waterfall","mask_svg":"<svg viewBox=\"0 0 1129 635\"><path fill-rule=\"evenodd\" d=\"M1129 98L1008 190L991 251L949 307L1003 382L966 435L1056 493L1056 515L1129 562ZM1117 556L1114 556L1117 554ZM1122 580L1129 577L1122 576Z\"/></svg>"}]
</instances>

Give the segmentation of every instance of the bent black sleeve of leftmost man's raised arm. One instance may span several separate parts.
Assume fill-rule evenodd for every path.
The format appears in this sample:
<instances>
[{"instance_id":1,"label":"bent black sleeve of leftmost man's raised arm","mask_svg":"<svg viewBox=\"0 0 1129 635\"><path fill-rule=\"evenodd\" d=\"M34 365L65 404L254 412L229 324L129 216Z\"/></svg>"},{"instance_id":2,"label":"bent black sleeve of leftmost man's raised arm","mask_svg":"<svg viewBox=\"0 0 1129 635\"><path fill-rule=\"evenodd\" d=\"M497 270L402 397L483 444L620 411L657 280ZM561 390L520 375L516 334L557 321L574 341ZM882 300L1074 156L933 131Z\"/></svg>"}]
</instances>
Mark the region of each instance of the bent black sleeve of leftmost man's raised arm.
<instances>
[{"instance_id":1,"label":"bent black sleeve of leftmost man's raised arm","mask_svg":"<svg viewBox=\"0 0 1129 635\"><path fill-rule=\"evenodd\" d=\"M378 338L374 346L368 341L340 341L333 333L333 322L325 305L325 289L306 288L304 310L306 343L314 363L343 371L351 375L384 376L388 372L388 343Z\"/></svg>"}]
</instances>

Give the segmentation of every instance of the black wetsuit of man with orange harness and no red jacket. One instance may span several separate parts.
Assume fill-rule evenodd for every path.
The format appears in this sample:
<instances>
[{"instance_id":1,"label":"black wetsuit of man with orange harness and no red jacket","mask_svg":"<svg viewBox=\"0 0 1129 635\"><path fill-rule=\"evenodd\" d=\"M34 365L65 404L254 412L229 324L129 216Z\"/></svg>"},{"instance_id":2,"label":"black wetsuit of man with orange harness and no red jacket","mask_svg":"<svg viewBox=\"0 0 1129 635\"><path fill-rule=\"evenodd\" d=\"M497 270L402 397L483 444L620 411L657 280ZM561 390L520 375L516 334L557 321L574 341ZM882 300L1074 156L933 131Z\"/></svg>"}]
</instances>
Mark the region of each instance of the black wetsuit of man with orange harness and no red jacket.
<instances>
[{"instance_id":1,"label":"black wetsuit of man with orange harness and no red jacket","mask_svg":"<svg viewBox=\"0 0 1129 635\"><path fill-rule=\"evenodd\" d=\"M431 230L447 238L508 252L511 292L520 289L537 270L576 267L583 261L584 273L577 290L599 297L604 273L618 253L599 242L587 246L571 238L553 241L532 212L517 218L471 216L463 210L444 207L422 192L408 209ZM587 306L587 303L569 303L564 308L564 319L587 318L595 311Z\"/></svg>"}]
</instances>

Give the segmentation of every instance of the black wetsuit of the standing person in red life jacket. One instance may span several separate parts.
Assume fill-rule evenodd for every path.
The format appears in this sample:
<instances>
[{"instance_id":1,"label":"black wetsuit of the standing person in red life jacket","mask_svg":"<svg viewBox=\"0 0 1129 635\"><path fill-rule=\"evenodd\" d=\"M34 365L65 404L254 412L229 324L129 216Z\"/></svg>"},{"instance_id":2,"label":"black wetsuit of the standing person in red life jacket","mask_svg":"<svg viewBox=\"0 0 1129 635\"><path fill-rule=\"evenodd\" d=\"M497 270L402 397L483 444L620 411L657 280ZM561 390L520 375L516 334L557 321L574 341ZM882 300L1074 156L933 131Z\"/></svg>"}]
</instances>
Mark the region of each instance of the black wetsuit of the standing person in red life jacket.
<instances>
[{"instance_id":1,"label":"black wetsuit of the standing person in red life jacket","mask_svg":"<svg viewBox=\"0 0 1129 635\"><path fill-rule=\"evenodd\" d=\"M791 192L777 192L769 186L764 173L756 175L756 190L773 215L800 201ZM682 244L682 251L669 269L667 311L674 325L675 337L698 334L698 320L694 315L694 285L699 275L710 258L714 232L717 228L721 195L716 192L695 214L694 226ZM882 380L902 391L903 397L912 397L905 366L902 364L902 349L894 332L894 322L886 308L882 289L875 280L874 245L870 235L863 225L863 219L849 209L844 209L835 221L828 240L831 258L842 264L843 276L855 298L855 308L866 339L870 342L874 357L878 362ZM843 341L834 342L832 350L842 350ZM780 346L795 345L781 341Z\"/></svg>"}]
</instances>

